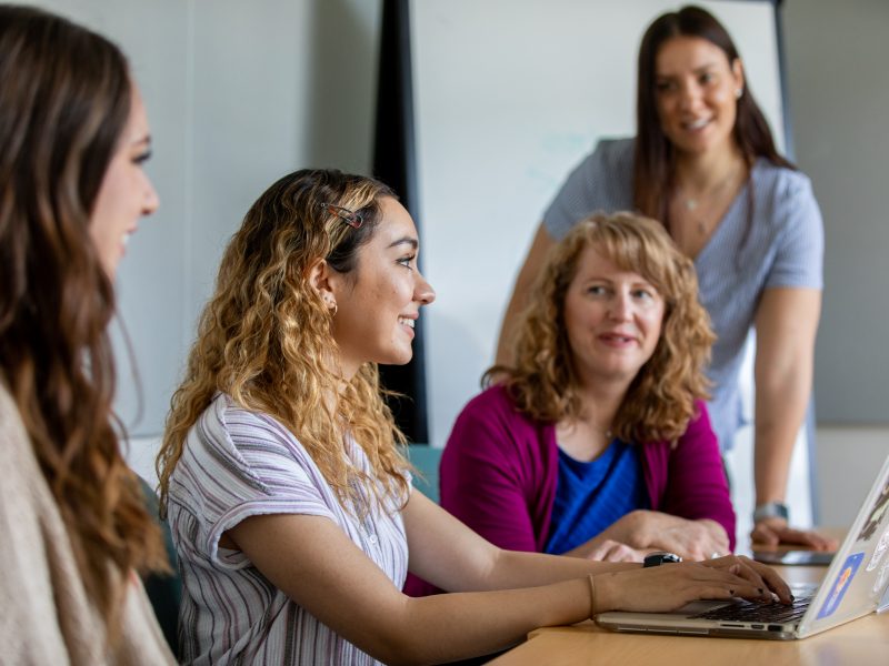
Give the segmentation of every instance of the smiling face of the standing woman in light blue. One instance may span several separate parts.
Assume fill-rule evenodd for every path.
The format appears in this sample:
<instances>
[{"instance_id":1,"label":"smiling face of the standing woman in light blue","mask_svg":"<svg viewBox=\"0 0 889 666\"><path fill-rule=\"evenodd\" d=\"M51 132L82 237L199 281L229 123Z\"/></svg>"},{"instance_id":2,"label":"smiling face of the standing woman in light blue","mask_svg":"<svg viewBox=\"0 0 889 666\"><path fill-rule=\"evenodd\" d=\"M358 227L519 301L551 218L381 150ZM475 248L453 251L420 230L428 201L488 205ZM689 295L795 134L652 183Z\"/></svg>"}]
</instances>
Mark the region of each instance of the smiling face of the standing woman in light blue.
<instances>
[{"instance_id":1,"label":"smiling face of the standing woman in light blue","mask_svg":"<svg viewBox=\"0 0 889 666\"><path fill-rule=\"evenodd\" d=\"M656 99L663 133L681 153L700 154L730 145L741 61L699 37L675 37L656 58Z\"/></svg>"}]
</instances>

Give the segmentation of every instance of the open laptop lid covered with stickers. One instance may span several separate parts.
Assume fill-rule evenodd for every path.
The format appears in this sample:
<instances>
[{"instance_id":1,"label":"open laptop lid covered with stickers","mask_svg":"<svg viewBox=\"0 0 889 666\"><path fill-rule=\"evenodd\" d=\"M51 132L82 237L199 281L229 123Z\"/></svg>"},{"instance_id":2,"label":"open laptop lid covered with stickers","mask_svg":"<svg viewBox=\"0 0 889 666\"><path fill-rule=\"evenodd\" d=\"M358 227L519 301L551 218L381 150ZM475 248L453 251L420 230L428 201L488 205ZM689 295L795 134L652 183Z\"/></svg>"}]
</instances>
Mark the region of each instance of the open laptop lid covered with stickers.
<instances>
[{"instance_id":1,"label":"open laptop lid covered with stickers","mask_svg":"<svg viewBox=\"0 0 889 666\"><path fill-rule=\"evenodd\" d=\"M798 635L810 636L871 613L886 602L888 587L889 457L800 620Z\"/></svg>"}]
</instances>

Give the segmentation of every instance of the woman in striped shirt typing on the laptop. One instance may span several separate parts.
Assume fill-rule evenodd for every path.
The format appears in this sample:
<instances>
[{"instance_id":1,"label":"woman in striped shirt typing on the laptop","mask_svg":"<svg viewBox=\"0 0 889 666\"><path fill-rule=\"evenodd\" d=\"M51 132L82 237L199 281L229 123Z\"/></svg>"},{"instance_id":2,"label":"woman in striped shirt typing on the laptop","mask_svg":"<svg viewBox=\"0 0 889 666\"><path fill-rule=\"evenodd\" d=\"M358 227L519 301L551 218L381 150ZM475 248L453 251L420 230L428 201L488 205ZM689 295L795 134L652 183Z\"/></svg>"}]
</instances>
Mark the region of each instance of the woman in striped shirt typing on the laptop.
<instances>
[{"instance_id":1,"label":"woman in striped shirt typing on the laptop","mask_svg":"<svg viewBox=\"0 0 889 666\"><path fill-rule=\"evenodd\" d=\"M745 558L501 551L412 492L377 363L410 360L434 297L418 248L391 190L322 170L274 183L232 238L158 460L186 663L440 663L611 607L789 599ZM410 598L408 569L468 594Z\"/></svg>"}]
</instances>

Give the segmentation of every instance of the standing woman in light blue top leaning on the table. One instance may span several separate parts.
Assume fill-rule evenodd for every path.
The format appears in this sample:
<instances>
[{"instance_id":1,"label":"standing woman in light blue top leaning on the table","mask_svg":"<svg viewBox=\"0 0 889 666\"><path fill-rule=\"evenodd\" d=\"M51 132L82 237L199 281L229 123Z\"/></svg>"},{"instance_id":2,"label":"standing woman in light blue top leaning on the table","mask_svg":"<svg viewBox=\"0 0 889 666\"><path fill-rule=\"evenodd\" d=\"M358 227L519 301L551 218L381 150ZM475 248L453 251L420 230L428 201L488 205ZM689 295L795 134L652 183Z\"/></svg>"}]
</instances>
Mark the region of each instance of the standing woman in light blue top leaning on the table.
<instances>
[{"instance_id":1,"label":"standing woman in light blue top leaning on the table","mask_svg":"<svg viewBox=\"0 0 889 666\"><path fill-rule=\"evenodd\" d=\"M593 211L635 209L663 222L695 260L717 342L710 415L723 451L742 425L739 372L757 331L752 538L818 548L785 505L790 457L812 384L823 230L809 179L775 148L726 29L685 7L648 28L639 49L638 135L602 141L547 210L509 303L498 363L547 250Z\"/></svg>"}]
</instances>

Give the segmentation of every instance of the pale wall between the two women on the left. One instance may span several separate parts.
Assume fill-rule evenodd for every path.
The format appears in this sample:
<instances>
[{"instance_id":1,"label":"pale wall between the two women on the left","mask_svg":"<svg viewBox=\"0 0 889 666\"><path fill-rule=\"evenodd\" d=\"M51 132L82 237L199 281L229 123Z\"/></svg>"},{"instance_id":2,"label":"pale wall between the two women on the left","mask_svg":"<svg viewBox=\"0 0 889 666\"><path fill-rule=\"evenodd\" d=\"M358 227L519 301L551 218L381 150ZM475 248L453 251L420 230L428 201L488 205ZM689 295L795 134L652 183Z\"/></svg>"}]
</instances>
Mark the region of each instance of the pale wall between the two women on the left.
<instances>
[{"instance_id":1,"label":"pale wall between the two women on the left","mask_svg":"<svg viewBox=\"0 0 889 666\"><path fill-rule=\"evenodd\" d=\"M157 436L248 206L303 167L369 172L380 0L39 0L118 42L148 108L148 172L161 208L143 220L118 276L132 343L114 329L117 408L131 458L153 478Z\"/></svg>"}]
</instances>

